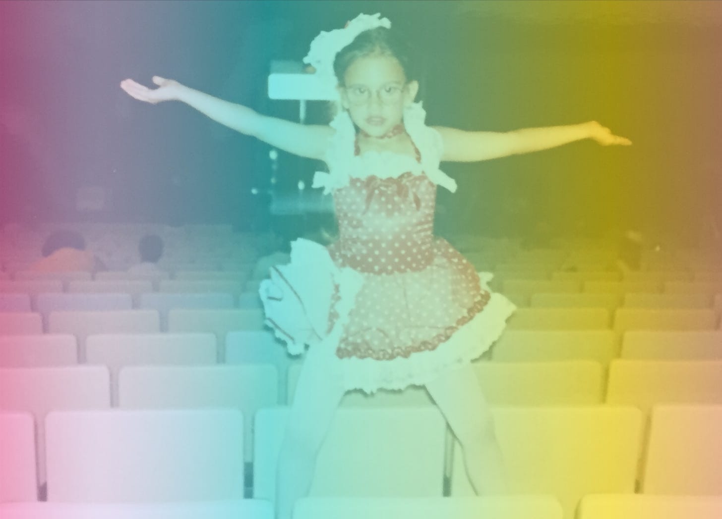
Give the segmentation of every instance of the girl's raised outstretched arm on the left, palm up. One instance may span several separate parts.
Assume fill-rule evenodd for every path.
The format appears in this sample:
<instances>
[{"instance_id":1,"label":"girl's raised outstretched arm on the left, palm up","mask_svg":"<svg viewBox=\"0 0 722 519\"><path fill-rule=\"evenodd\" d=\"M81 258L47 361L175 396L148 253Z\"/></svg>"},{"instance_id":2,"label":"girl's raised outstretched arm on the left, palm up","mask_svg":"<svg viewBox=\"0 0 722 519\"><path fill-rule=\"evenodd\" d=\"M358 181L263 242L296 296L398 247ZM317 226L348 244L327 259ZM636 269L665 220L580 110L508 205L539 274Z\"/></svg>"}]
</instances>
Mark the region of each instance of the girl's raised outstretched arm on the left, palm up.
<instances>
[{"instance_id":1,"label":"girl's raised outstretched arm on the left, palm up","mask_svg":"<svg viewBox=\"0 0 722 519\"><path fill-rule=\"evenodd\" d=\"M149 89L132 79L122 81L121 88L131 97L152 104L162 101L184 102L232 130L256 137L291 154L310 159L323 159L329 137L334 133L334 129L330 126L302 125L277 117L261 115L251 108L188 88L173 79L153 76L153 82L159 88Z\"/></svg>"}]
</instances>

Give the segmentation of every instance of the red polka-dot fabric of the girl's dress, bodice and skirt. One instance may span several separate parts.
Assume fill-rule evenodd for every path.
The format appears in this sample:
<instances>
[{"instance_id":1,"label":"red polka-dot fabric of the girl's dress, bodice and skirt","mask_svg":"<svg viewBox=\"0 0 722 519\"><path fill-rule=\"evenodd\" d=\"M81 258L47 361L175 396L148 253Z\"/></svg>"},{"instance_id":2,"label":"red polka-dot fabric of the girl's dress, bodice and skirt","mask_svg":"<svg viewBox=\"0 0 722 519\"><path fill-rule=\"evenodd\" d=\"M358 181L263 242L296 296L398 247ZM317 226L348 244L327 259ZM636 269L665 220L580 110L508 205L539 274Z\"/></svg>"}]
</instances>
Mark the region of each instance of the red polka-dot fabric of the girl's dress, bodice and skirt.
<instances>
[{"instance_id":1,"label":"red polka-dot fabric of the girl's dress, bodice and skirt","mask_svg":"<svg viewBox=\"0 0 722 519\"><path fill-rule=\"evenodd\" d=\"M473 265L433 236L435 200L436 185L411 173L352 178L334 191L339 241L329 254L339 267L366 274L339 358L391 360L433 350L489 301ZM329 329L333 312L330 320Z\"/></svg>"}]
</instances>

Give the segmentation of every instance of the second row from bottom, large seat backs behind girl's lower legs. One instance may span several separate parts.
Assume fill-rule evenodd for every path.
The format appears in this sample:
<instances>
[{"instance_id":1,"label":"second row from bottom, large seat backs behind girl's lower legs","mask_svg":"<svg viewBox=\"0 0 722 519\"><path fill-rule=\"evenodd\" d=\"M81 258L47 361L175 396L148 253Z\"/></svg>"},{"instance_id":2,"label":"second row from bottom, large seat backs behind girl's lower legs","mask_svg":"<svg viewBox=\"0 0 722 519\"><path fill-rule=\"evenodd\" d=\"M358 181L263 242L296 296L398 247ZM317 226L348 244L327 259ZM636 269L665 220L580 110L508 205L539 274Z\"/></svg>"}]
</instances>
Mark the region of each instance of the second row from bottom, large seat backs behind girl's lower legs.
<instances>
[{"instance_id":1,"label":"second row from bottom, large seat backs behind girl's lower legs","mask_svg":"<svg viewBox=\"0 0 722 519\"><path fill-rule=\"evenodd\" d=\"M560 500L565 518L574 517L587 494L633 494L635 489L647 494L722 492L722 406L656 407L639 486L643 435L638 409L501 407L492 413L510 473L510 492L552 494ZM287 417L285 408L263 409L256 416L257 499L274 499ZM29 415L1 414L0 420L12 438L22 438L17 434L20 425L32 438ZM242 422L240 412L228 409L53 412L46 424L48 500L240 499ZM434 408L339 409L318 455L310 495L441 497L444 434L443 417ZM17 445L13 447L19 452ZM451 496L464 497L469 495L469 482L461 451L454 452ZM6 465L3 470L9 469ZM5 480L11 488L28 479L22 470L13 474ZM26 494L15 500L34 499L32 475L25 482ZM0 489L9 492L6 484Z\"/></svg>"}]
</instances>

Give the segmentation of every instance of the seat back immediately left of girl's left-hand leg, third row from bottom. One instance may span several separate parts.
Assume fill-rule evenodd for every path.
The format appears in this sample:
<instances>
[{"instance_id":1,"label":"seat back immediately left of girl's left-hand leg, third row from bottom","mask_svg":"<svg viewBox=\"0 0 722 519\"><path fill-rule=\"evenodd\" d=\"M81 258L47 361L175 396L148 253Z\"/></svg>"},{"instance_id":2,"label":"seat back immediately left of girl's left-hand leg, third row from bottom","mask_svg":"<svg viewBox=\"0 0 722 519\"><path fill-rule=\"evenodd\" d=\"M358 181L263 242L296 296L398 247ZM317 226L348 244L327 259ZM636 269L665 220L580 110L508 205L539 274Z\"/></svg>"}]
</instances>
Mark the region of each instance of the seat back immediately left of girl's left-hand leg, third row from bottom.
<instances>
[{"instance_id":1,"label":"seat back immediately left of girl's left-hand leg, third row from bottom","mask_svg":"<svg viewBox=\"0 0 722 519\"><path fill-rule=\"evenodd\" d=\"M253 420L258 409L279 403L272 365L134 366L121 369L118 402L125 409L231 407L243 412L245 460L253 458Z\"/></svg>"}]
</instances>

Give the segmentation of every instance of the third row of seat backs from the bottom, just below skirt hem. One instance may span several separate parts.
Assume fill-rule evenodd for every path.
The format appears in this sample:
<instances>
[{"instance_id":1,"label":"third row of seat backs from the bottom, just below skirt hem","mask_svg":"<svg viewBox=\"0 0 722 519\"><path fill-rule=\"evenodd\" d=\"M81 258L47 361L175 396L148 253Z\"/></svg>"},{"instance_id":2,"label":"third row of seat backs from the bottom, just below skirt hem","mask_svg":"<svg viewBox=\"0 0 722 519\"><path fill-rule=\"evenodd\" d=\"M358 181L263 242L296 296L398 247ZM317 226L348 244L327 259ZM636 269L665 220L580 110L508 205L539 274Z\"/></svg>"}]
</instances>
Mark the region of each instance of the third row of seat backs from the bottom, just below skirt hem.
<instances>
[{"instance_id":1,"label":"third row of seat backs from the bottom, just below skirt hem","mask_svg":"<svg viewBox=\"0 0 722 519\"><path fill-rule=\"evenodd\" d=\"M301 365L288 373L287 399L272 365L134 366L112 380L105 366L0 369L0 409L32 412L38 448L43 422L58 409L230 407L253 416L258 409L292 402ZM591 361L561 363L477 363L487 400L493 405L560 406L633 405L646 416L661 403L722 404L722 362L650 363L619 361L612 365L604 398L601 366ZM378 391L367 396L350 391L342 407L432 407L425 389ZM246 436L252 438L251 423ZM42 454L42 453L40 453ZM42 458L42 456L40 456ZM245 459L251 461L251 440ZM43 475L42 461L40 473Z\"/></svg>"}]
</instances>

